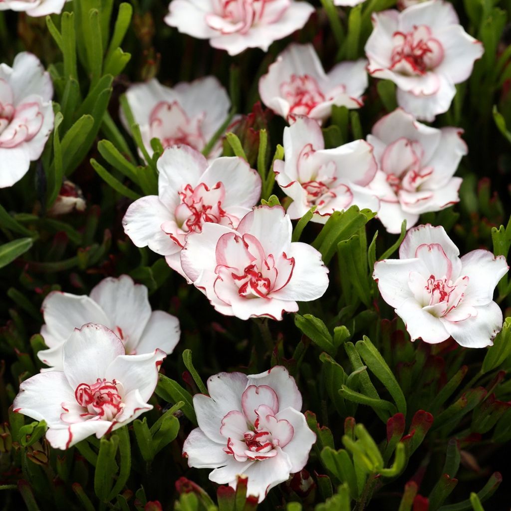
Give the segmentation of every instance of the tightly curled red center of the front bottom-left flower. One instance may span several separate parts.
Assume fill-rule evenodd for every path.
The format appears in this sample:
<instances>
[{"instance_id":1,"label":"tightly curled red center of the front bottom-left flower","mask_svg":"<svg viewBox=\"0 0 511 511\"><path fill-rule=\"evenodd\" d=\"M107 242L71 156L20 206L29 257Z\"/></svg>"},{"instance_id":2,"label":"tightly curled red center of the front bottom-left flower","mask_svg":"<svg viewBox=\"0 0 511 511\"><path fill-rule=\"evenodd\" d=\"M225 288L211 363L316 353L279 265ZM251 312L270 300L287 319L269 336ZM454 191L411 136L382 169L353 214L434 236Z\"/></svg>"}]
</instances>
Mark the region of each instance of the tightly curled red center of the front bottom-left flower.
<instances>
[{"instance_id":1,"label":"tightly curled red center of the front bottom-left flower","mask_svg":"<svg viewBox=\"0 0 511 511\"><path fill-rule=\"evenodd\" d=\"M124 407L115 380L109 382L98 378L96 383L88 385L80 383L75 390L75 398L80 406L87 409L82 416L99 416L105 421L111 421Z\"/></svg>"}]
</instances>

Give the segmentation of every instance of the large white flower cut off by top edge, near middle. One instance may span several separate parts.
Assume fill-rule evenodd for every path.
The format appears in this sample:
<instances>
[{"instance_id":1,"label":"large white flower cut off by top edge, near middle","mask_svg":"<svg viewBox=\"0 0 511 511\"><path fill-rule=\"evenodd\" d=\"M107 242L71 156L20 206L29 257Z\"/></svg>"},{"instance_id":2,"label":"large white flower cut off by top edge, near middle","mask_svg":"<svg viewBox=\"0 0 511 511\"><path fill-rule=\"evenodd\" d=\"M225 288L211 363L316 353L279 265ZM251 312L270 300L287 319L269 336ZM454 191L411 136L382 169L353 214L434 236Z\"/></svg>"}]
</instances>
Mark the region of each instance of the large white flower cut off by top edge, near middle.
<instances>
[{"instance_id":1,"label":"large white flower cut off by top edge, near middle","mask_svg":"<svg viewBox=\"0 0 511 511\"><path fill-rule=\"evenodd\" d=\"M238 55L247 48L267 52L273 41L303 28L313 12L311 4L295 0L173 0L165 22Z\"/></svg>"}]
</instances>

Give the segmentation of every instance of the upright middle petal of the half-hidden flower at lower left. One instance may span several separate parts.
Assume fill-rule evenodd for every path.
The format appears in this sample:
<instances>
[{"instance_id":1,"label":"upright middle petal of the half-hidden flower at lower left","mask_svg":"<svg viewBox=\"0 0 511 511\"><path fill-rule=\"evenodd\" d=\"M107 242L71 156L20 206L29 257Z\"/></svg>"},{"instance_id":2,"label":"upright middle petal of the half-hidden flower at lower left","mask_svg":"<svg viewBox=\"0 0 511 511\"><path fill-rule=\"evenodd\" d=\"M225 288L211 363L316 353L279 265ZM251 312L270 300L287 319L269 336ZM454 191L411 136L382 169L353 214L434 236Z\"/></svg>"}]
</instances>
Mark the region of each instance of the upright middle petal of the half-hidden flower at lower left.
<instances>
[{"instance_id":1,"label":"upright middle petal of the half-hidden flower at lower left","mask_svg":"<svg viewBox=\"0 0 511 511\"><path fill-rule=\"evenodd\" d=\"M147 287L135 284L128 275L107 277L92 289L90 297L105 311L112 330L124 341L129 353L151 316Z\"/></svg>"}]
</instances>

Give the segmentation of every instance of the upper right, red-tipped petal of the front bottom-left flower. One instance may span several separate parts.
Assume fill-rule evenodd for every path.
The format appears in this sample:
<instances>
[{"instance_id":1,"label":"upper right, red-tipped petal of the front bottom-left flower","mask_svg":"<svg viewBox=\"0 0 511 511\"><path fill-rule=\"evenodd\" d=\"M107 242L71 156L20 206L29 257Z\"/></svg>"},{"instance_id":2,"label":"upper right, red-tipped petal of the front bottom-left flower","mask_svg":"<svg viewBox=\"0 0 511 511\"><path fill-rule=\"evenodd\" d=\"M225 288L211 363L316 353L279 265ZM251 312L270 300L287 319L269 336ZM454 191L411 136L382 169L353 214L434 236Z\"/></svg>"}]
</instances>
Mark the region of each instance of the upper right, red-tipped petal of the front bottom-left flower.
<instances>
[{"instance_id":1,"label":"upper right, red-tipped petal of the front bottom-left flower","mask_svg":"<svg viewBox=\"0 0 511 511\"><path fill-rule=\"evenodd\" d=\"M120 355L110 362L104 378L121 382L126 393L138 390L142 400L149 401L158 383L161 361L165 357L161 350L144 355Z\"/></svg>"}]
</instances>

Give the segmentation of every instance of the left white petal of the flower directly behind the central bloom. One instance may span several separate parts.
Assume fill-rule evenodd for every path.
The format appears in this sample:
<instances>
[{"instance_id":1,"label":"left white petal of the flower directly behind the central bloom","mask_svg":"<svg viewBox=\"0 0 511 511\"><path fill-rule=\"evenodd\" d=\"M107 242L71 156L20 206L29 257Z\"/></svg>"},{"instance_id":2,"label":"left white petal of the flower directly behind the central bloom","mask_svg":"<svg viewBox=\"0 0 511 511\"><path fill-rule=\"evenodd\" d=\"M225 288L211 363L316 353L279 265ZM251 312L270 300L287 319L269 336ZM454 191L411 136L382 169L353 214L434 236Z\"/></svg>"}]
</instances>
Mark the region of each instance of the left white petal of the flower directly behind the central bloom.
<instances>
[{"instance_id":1,"label":"left white petal of the flower directly behind the central bloom","mask_svg":"<svg viewBox=\"0 0 511 511\"><path fill-rule=\"evenodd\" d=\"M148 246L160 255L168 255L178 251L179 246L161 229L161 224L173 220L174 215L158 196L148 195L130 204L123 227L135 246Z\"/></svg>"}]
</instances>

